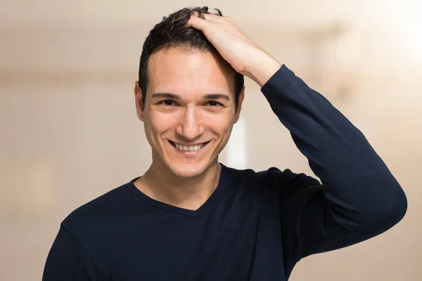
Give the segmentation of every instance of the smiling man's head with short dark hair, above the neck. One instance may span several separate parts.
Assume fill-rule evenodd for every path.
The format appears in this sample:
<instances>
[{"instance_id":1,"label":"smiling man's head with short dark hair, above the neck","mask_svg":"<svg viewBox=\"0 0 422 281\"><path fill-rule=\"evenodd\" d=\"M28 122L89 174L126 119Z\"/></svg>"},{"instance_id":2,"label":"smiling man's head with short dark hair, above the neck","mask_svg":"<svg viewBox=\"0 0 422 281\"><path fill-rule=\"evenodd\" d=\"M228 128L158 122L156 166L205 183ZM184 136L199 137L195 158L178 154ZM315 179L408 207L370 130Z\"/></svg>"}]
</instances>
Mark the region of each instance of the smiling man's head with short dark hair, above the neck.
<instances>
[{"instance_id":1,"label":"smiling man's head with short dark hair, above the neck","mask_svg":"<svg viewBox=\"0 0 422 281\"><path fill-rule=\"evenodd\" d=\"M207 7L184 8L151 30L134 89L153 164L183 177L198 176L217 162L244 97L243 75L200 30L184 28L194 11L207 13ZM181 151L188 145L189 152Z\"/></svg>"}]
</instances>

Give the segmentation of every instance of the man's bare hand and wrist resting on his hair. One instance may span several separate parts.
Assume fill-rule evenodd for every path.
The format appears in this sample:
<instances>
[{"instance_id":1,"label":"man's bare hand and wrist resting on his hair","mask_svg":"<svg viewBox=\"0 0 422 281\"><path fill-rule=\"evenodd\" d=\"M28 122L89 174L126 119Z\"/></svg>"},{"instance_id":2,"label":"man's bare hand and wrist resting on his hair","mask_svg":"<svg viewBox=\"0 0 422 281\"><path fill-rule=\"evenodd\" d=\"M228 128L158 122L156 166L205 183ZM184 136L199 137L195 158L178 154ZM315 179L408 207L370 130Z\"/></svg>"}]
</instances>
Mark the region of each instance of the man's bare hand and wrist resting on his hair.
<instances>
[{"instance_id":1,"label":"man's bare hand and wrist resting on his hair","mask_svg":"<svg viewBox=\"0 0 422 281\"><path fill-rule=\"evenodd\" d=\"M234 70L261 87L281 67L276 59L252 41L229 17L195 14L191 15L186 27L202 31Z\"/></svg>"}]
</instances>

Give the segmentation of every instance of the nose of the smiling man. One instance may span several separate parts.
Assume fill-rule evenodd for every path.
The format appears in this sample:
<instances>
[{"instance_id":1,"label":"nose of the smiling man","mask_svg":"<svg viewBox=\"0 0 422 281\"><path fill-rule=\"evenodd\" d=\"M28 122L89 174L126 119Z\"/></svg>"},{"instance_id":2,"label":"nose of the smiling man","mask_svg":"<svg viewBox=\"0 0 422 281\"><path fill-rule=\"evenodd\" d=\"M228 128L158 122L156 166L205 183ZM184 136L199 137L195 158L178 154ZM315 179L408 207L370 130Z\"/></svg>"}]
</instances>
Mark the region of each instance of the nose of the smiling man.
<instances>
[{"instance_id":1,"label":"nose of the smiling man","mask_svg":"<svg viewBox=\"0 0 422 281\"><path fill-rule=\"evenodd\" d=\"M186 107L177 126L177 133L188 141L192 141L202 135L204 127L200 122L199 115L200 112L198 112L195 106Z\"/></svg>"}]
</instances>

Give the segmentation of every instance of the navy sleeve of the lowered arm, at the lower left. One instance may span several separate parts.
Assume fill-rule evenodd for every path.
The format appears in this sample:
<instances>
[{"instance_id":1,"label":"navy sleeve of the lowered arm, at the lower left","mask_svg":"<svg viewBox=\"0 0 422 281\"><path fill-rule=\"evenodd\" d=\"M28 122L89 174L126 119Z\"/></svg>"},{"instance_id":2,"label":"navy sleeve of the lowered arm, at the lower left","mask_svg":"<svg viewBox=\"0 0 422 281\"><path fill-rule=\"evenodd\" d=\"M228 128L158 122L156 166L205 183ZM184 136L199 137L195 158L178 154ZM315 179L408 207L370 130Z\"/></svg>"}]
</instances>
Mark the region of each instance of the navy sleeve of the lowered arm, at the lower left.
<instances>
[{"instance_id":1,"label":"navy sleeve of the lowered arm, at the lower left","mask_svg":"<svg viewBox=\"0 0 422 281\"><path fill-rule=\"evenodd\" d=\"M42 280L97 281L101 278L82 245L61 226L47 257Z\"/></svg>"}]
</instances>

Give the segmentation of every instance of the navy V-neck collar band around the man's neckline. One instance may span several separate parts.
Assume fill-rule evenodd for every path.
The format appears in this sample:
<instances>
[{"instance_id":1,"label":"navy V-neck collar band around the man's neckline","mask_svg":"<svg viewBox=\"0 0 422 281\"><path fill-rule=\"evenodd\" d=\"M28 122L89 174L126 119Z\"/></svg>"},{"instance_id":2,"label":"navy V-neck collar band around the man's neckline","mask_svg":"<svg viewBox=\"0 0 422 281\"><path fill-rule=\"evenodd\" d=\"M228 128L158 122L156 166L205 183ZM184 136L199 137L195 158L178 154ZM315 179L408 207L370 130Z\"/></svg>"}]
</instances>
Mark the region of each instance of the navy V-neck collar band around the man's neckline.
<instances>
[{"instance_id":1,"label":"navy V-neck collar band around the man's neckline","mask_svg":"<svg viewBox=\"0 0 422 281\"><path fill-rule=\"evenodd\" d=\"M141 200L143 200L146 203L151 204L155 207L165 209L167 211L172 211L172 212L177 213L177 214L182 214L184 216L191 216L193 218L199 218L202 214L205 213L205 211L207 211L207 209L210 209L210 207L212 207L216 202L218 202L219 198L224 193L224 190L226 190L226 187L228 185L227 178L226 178L228 168L226 166L224 166L222 163L219 163L219 164L222 166L222 170L221 170L221 173L220 173L217 188L215 188L214 192L212 192L211 196L208 197L208 199L204 202L204 204L202 204L196 210L189 210L189 209L176 207L176 206L164 203L164 202L160 202L158 200L154 200L151 197L148 197L146 194L141 192L141 190L136 188L136 185L134 185L134 182L138 178L140 178L141 176L138 176L137 178L134 178L132 181L129 181L129 183L127 183L127 188L130 191L132 191L134 193L134 195L139 197Z\"/></svg>"}]
</instances>

